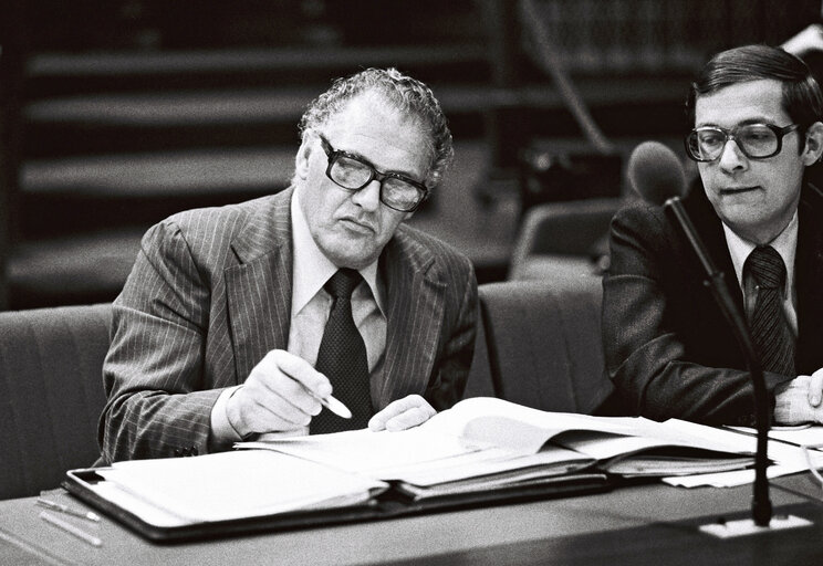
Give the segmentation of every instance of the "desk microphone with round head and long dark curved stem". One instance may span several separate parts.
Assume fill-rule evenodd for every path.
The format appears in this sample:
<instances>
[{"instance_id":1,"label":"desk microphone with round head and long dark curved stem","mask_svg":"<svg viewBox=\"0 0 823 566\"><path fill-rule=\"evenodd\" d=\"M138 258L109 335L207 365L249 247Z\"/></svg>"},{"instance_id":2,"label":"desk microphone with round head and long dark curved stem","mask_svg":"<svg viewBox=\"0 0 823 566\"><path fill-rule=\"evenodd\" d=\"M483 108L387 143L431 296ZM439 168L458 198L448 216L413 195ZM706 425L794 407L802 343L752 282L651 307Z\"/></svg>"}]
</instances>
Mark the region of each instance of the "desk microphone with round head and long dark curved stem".
<instances>
[{"instance_id":1,"label":"desk microphone with round head and long dark curved stem","mask_svg":"<svg viewBox=\"0 0 823 566\"><path fill-rule=\"evenodd\" d=\"M758 429L757 453L754 457L754 491L752 496L752 520L757 526L769 526L772 505L769 501L769 480L765 469L769 465L769 394L763 379L760 359L754 353L754 344L749 325L729 293L723 273L715 266L706 245L680 201L686 193L686 172L677 155L659 142L644 142L638 145L628 159L628 180L635 192L644 200L663 206L670 219L677 223L702 265L704 283L711 290L723 316L740 344L751 377L754 392L754 417Z\"/></svg>"}]
</instances>

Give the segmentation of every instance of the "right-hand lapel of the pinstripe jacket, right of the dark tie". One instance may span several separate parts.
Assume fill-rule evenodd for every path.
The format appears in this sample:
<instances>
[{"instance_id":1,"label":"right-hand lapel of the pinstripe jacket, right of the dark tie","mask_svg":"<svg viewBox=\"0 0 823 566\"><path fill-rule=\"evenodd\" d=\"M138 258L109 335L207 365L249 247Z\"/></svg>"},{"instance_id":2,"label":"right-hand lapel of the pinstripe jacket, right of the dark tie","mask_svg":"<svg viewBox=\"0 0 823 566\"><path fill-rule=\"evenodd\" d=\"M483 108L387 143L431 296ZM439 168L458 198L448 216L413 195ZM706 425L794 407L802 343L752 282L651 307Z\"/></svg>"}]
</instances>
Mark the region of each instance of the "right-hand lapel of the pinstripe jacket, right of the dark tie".
<instances>
[{"instance_id":1,"label":"right-hand lapel of the pinstripe jacket, right of the dark tie","mask_svg":"<svg viewBox=\"0 0 823 566\"><path fill-rule=\"evenodd\" d=\"M386 281L387 328L382 387L376 410L393 399L423 394L437 356L445 283L434 255L402 227L381 256Z\"/></svg>"}]
</instances>

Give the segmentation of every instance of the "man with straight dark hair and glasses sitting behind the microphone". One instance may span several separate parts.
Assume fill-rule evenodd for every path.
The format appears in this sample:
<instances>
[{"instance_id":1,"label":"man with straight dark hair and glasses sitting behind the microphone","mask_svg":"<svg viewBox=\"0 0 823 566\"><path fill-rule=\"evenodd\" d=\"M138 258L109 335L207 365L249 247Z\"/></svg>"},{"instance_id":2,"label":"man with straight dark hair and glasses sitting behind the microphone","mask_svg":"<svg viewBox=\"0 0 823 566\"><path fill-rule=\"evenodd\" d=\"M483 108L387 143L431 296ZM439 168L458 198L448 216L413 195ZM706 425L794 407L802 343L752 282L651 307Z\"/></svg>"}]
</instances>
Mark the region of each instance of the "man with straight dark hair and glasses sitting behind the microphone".
<instances>
[{"instance_id":1,"label":"man with straight dark hair and glasses sitting behind the microphone","mask_svg":"<svg viewBox=\"0 0 823 566\"><path fill-rule=\"evenodd\" d=\"M823 422L823 95L804 63L764 45L716 55L692 84L686 137L699 185L684 207L746 312L779 423ZM753 422L752 386L688 243L660 207L613 221L604 347L633 410Z\"/></svg>"}]
</instances>

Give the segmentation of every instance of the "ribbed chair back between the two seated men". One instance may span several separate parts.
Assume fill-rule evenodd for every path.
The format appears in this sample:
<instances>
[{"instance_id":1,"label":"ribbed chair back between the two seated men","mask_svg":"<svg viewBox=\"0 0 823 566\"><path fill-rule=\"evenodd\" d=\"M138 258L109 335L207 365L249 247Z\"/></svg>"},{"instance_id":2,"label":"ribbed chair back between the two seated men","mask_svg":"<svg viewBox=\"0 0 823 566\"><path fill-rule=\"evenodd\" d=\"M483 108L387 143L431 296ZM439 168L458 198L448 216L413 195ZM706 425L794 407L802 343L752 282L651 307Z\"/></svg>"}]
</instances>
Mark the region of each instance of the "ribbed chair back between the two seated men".
<instances>
[{"instance_id":1,"label":"ribbed chair back between the two seated men","mask_svg":"<svg viewBox=\"0 0 823 566\"><path fill-rule=\"evenodd\" d=\"M497 396L546 411L600 413L614 388L601 340L601 279L480 285Z\"/></svg>"}]
</instances>

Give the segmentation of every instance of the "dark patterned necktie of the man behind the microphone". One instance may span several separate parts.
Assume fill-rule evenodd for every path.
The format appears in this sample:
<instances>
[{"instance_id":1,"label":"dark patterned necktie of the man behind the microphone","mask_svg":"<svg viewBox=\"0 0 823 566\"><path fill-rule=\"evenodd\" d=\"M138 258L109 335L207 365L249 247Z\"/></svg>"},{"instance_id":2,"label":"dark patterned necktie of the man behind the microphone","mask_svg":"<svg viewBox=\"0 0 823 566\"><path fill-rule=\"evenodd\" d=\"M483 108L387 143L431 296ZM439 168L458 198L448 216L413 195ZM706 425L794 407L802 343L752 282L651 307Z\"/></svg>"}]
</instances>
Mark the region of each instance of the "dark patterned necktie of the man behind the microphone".
<instances>
[{"instance_id":1,"label":"dark patterned necktie of the man behind the microphone","mask_svg":"<svg viewBox=\"0 0 823 566\"><path fill-rule=\"evenodd\" d=\"M758 245L746 260L758 285L751 315L751 337L764 371L794 376L794 337L782 305L783 259L771 245Z\"/></svg>"}]
</instances>

